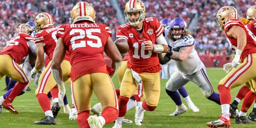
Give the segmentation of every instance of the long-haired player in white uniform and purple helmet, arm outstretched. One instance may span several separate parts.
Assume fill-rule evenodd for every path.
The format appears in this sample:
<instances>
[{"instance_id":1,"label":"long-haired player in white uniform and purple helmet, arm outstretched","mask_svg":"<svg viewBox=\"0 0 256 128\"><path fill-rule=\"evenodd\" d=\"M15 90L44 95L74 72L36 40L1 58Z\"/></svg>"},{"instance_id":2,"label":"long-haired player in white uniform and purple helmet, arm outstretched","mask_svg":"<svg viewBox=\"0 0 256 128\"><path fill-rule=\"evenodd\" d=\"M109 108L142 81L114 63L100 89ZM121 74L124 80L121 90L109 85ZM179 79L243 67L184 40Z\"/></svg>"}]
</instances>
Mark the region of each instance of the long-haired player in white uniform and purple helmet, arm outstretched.
<instances>
[{"instance_id":1,"label":"long-haired player in white uniform and purple helmet, arm outstretched","mask_svg":"<svg viewBox=\"0 0 256 128\"><path fill-rule=\"evenodd\" d=\"M170 116L177 116L187 111L177 90L189 81L194 82L206 98L220 104L220 96L212 89L204 63L194 49L195 40L190 35L190 31L187 30L184 19L177 17L172 20L168 39L168 45L171 49L166 53L166 56L159 57L161 64L165 64L170 59L174 60L178 69L173 72L166 83L166 93L176 104L176 110Z\"/></svg>"}]
</instances>

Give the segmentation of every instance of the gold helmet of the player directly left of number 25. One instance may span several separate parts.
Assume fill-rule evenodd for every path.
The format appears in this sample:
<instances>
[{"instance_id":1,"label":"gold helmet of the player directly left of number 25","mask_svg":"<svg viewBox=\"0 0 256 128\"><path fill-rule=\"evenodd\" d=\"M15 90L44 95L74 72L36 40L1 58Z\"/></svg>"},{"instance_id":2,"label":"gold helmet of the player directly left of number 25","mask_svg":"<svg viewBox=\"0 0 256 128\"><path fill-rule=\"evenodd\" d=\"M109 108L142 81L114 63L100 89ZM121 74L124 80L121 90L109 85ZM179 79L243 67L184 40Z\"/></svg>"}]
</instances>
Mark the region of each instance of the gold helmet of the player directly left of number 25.
<instances>
[{"instance_id":1,"label":"gold helmet of the player directly left of number 25","mask_svg":"<svg viewBox=\"0 0 256 128\"><path fill-rule=\"evenodd\" d=\"M48 28L53 26L52 16L46 12L40 13L35 18L36 31L39 32L43 28Z\"/></svg>"}]
</instances>

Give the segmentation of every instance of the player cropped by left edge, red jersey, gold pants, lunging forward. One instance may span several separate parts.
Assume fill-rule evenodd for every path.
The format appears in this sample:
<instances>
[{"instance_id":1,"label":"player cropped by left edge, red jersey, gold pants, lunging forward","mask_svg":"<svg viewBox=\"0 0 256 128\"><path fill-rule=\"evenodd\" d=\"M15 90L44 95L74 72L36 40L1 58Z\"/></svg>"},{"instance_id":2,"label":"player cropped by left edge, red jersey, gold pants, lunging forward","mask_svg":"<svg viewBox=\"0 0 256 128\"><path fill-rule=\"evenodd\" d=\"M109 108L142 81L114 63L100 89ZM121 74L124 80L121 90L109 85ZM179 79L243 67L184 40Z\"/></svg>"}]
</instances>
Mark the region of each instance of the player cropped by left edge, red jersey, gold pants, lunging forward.
<instances>
[{"instance_id":1,"label":"player cropped by left edge, red jersey, gold pants, lunging forward","mask_svg":"<svg viewBox=\"0 0 256 128\"><path fill-rule=\"evenodd\" d=\"M10 39L7 46L0 52L0 79L6 75L18 83L12 92L2 103L2 107L14 114L18 114L12 106L12 101L18 96L28 84L28 77L19 64L22 64L30 52L36 55L36 44L28 33L32 29L28 24L21 24L18 27L18 34Z\"/></svg>"}]
</instances>

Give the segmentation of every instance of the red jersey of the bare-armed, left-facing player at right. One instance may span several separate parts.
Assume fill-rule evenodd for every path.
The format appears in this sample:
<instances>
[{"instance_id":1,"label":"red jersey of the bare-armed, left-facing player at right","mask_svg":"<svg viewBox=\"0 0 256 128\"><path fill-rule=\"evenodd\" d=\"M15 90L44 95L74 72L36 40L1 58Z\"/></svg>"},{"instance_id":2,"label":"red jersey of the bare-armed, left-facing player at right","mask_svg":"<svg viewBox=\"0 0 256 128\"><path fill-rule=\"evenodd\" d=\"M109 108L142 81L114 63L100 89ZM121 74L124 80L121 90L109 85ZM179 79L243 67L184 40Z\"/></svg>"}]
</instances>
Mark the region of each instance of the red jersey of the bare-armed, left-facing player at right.
<instances>
[{"instance_id":1,"label":"red jersey of the bare-armed, left-facing player at right","mask_svg":"<svg viewBox=\"0 0 256 128\"><path fill-rule=\"evenodd\" d=\"M225 32L226 37L228 38L228 43L230 45L230 48L234 51L237 48L237 39L235 39L234 37L229 37L226 34L228 29L232 26L240 26L244 29L244 31L246 33L246 39L247 39L246 46L244 47L244 50L242 51L240 59L243 60L248 54L256 53L256 37L247 28L247 26L243 24L242 21L235 19L235 18L228 20L224 25L224 32Z\"/></svg>"}]
</instances>

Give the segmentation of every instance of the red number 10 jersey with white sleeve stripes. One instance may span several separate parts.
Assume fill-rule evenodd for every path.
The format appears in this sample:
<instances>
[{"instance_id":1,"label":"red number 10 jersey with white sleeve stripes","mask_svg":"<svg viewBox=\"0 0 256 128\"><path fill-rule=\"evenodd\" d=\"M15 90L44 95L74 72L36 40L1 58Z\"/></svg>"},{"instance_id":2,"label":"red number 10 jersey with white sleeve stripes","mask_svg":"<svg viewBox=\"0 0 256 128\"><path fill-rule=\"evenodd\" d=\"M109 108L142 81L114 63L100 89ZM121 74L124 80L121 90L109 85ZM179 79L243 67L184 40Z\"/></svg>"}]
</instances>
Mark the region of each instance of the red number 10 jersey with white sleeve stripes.
<instances>
[{"instance_id":1,"label":"red number 10 jersey with white sleeve stripes","mask_svg":"<svg viewBox=\"0 0 256 128\"><path fill-rule=\"evenodd\" d=\"M158 55L156 52L144 50L144 41L156 44L156 38L164 32L164 27L154 17L145 18L142 32L138 32L133 26L122 24L117 28L116 38L126 40L129 44L129 61L127 68L142 72L160 72Z\"/></svg>"}]
</instances>

